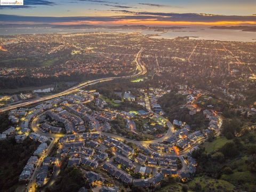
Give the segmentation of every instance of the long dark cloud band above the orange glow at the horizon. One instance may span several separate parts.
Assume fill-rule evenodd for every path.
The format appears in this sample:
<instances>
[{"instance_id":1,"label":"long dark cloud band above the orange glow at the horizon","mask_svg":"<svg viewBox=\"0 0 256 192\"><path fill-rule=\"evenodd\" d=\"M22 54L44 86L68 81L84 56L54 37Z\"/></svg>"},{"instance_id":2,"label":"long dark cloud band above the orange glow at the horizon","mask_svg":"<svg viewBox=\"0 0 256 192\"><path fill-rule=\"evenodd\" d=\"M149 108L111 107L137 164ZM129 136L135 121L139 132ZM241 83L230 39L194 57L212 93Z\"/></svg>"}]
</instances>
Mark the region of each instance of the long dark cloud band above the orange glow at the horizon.
<instances>
[{"instance_id":1,"label":"long dark cloud band above the orange glow at the horizon","mask_svg":"<svg viewBox=\"0 0 256 192\"><path fill-rule=\"evenodd\" d=\"M114 11L114 10L112 10ZM130 15L117 15L109 17L32 17L21 15L0 14L2 22L117 22L125 20L152 20L156 22L246 22L252 21L256 23L255 15L239 16L239 15L214 15L214 14L197 14L197 13L162 13L162 12L132 12L127 10L116 10L116 12L130 13Z\"/></svg>"}]
</instances>

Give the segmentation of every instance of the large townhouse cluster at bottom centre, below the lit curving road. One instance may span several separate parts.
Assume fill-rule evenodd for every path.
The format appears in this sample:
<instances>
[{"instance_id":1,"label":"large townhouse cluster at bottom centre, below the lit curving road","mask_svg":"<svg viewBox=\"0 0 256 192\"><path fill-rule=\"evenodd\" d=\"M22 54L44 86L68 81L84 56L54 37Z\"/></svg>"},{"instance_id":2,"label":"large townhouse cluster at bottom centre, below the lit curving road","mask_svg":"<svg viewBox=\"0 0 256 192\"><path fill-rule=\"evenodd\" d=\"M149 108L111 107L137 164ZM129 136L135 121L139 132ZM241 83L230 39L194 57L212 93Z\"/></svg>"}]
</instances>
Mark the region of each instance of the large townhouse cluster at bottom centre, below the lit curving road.
<instances>
[{"instance_id":1,"label":"large townhouse cluster at bottom centre, below the lit curving road","mask_svg":"<svg viewBox=\"0 0 256 192\"><path fill-rule=\"evenodd\" d=\"M86 178L92 186L102 184L105 180L92 171L98 167L102 167L109 175L125 184L144 187L157 185L169 175L177 175L177 157L139 153L132 161L131 158L135 155L133 148L114 138L102 138L97 132L86 132L82 137L74 134L65 135L59 139L59 147L61 158L69 157L68 166L90 168L91 171L86 174ZM109 159L106 149L111 149L115 155ZM161 172L153 173L158 167L161 168ZM134 179L131 173L150 178Z\"/></svg>"}]
</instances>

